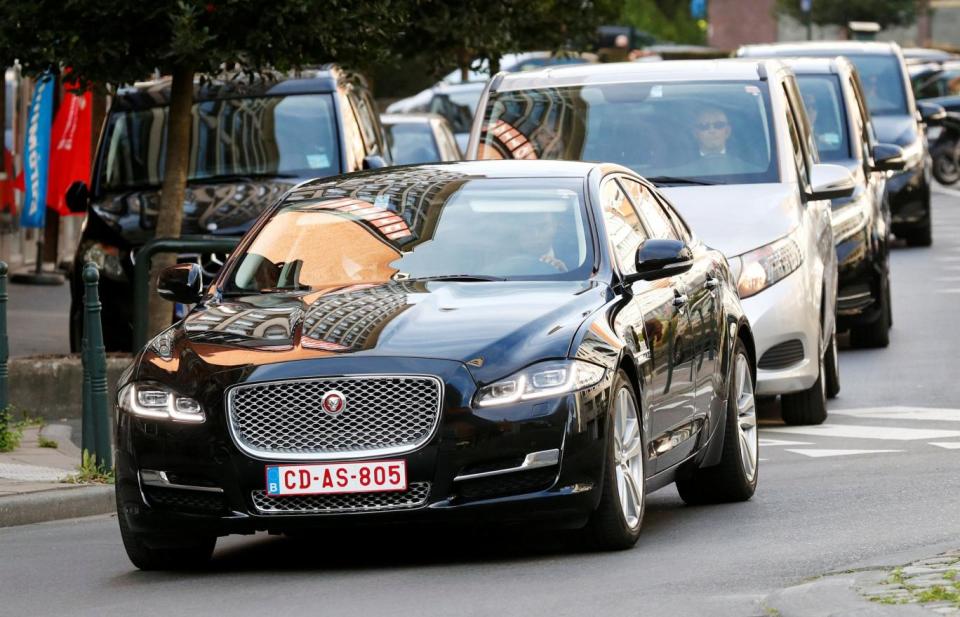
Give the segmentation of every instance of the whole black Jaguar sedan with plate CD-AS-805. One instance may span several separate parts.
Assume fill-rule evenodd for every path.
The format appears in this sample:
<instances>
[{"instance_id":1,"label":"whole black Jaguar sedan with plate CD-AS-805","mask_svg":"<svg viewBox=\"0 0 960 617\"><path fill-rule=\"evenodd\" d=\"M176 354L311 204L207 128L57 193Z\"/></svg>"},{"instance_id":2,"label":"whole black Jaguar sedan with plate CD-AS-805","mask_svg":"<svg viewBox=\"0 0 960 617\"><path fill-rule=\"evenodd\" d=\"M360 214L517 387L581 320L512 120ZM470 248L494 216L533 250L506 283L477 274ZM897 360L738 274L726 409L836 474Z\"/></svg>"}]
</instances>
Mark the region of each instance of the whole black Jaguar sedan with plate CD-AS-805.
<instances>
[{"instance_id":1,"label":"whole black Jaguar sedan with plate CD-AS-805","mask_svg":"<svg viewBox=\"0 0 960 617\"><path fill-rule=\"evenodd\" d=\"M218 536L545 521L632 546L645 495L745 500L755 358L722 254L626 168L484 161L292 189L117 400L131 561Z\"/></svg>"}]
</instances>

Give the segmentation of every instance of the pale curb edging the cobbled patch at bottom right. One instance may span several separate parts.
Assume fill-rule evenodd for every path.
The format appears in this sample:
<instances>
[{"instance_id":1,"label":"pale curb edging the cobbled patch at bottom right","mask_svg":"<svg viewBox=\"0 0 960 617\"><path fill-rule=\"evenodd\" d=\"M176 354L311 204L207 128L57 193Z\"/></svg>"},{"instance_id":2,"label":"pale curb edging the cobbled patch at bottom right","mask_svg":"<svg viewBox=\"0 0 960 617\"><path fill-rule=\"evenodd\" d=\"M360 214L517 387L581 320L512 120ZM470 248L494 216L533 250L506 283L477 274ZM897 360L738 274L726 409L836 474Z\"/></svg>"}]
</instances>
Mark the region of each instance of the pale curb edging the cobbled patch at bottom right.
<instances>
[{"instance_id":1,"label":"pale curb edging the cobbled patch at bottom right","mask_svg":"<svg viewBox=\"0 0 960 617\"><path fill-rule=\"evenodd\" d=\"M930 617L930 611L916 604L878 604L857 593L855 586L873 582L879 574L872 570L826 576L774 592L764 599L763 606L780 617Z\"/></svg>"}]
</instances>

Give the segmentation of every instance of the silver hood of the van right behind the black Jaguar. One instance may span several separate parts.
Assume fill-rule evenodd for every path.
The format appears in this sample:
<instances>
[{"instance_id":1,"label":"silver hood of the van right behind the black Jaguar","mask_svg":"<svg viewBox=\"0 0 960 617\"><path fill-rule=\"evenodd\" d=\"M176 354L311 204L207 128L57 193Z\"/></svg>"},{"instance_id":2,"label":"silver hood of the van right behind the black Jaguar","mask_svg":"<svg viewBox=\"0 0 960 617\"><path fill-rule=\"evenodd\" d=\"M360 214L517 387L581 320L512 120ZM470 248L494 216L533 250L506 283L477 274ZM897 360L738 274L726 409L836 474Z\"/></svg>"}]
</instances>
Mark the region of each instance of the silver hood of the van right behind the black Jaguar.
<instances>
[{"instance_id":1,"label":"silver hood of the van right behind the black Jaguar","mask_svg":"<svg viewBox=\"0 0 960 617\"><path fill-rule=\"evenodd\" d=\"M795 184L662 187L700 239L735 257L781 238L800 223Z\"/></svg>"}]
</instances>

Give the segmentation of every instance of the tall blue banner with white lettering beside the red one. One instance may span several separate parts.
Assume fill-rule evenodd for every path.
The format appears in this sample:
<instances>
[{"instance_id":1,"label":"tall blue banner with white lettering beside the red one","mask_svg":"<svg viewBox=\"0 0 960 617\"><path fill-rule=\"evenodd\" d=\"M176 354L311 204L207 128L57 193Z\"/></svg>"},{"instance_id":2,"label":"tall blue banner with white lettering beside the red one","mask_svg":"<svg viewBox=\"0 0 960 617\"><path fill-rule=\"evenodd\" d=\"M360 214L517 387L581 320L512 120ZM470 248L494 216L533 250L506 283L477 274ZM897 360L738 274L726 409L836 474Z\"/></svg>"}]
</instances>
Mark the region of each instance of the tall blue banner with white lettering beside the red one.
<instances>
[{"instance_id":1,"label":"tall blue banner with white lettering beside the red one","mask_svg":"<svg viewBox=\"0 0 960 617\"><path fill-rule=\"evenodd\" d=\"M47 166L50 161L50 124L55 87L52 75L47 73L40 77L34 86L27 112L27 137L23 148L23 184L26 191L20 215L22 227L43 227L47 211Z\"/></svg>"}]
</instances>

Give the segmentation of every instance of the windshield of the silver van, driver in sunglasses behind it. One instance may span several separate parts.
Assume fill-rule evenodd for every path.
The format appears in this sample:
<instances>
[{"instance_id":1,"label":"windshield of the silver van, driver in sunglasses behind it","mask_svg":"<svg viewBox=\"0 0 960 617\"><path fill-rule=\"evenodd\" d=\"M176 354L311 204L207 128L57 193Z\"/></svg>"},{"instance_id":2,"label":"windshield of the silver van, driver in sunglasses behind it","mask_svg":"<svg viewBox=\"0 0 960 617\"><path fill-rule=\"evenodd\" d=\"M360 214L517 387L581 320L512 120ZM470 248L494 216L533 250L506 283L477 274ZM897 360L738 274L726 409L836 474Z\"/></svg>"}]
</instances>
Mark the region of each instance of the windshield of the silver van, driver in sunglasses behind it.
<instances>
[{"instance_id":1,"label":"windshield of the silver van, driver in sunglasses behind it","mask_svg":"<svg viewBox=\"0 0 960 617\"><path fill-rule=\"evenodd\" d=\"M779 179L763 82L535 88L491 95L479 158L620 163L657 181Z\"/></svg>"}]
</instances>

